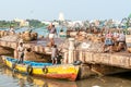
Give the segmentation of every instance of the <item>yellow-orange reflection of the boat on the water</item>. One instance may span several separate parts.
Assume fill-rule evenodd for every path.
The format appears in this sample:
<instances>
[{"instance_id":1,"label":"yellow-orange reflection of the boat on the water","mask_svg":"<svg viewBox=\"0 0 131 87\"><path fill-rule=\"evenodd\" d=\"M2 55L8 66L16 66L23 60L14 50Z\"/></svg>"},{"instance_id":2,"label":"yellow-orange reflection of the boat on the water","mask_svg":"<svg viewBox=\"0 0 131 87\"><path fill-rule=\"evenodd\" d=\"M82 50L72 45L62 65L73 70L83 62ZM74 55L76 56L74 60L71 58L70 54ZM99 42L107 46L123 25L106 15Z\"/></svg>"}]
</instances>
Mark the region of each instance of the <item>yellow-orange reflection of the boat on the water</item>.
<instances>
[{"instance_id":1,"label":"yellow-orange reflection of the boat on the water","mask_svg":"<svg viewBox=\"0 0 131 87\"><path fill-rule=\"evenodd\" d=\"M41 78L36 76L26 76L20 73L12 73L9 69L4 69L2 71L8 77L15 77L15 79L20 79L21 84L17 84L19 87L23 87L21 85L25 84L24 87L28 87L32 84L32 87L78 87L76 82L66 82L66 80L56 80L49 78ZM21 79L25 82L21 82Z\"/></svg>"}]
</instances>

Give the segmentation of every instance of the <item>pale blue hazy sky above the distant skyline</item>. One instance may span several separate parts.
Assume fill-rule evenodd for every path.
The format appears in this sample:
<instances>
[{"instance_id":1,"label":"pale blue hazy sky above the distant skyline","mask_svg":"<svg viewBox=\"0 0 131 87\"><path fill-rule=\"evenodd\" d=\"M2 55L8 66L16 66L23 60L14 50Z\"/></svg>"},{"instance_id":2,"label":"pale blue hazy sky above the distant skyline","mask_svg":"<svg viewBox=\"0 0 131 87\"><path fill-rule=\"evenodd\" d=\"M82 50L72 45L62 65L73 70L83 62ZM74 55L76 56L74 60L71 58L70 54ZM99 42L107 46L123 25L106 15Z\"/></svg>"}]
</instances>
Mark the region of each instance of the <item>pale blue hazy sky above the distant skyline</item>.
<instances>
[{"instance_id":1,"label":"pale blue hazy sky above the distant skyline","mask_svg":"<svg viewBox=\"0 0 131 87\"><path fill-rule=\"evenodd\" d=\"M0 20L122 20L131 13L131 0L0 0Z\"/></svg>"}]
</instances>

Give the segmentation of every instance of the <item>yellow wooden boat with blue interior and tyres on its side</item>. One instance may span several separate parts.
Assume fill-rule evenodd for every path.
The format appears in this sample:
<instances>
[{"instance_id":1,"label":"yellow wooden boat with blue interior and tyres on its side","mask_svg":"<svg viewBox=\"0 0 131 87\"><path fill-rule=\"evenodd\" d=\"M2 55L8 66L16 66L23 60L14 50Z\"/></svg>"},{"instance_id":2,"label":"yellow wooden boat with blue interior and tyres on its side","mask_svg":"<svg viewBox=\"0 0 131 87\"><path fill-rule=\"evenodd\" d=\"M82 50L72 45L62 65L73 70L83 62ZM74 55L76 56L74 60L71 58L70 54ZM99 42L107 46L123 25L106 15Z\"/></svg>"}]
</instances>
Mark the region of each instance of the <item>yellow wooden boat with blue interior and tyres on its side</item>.
<instances>
[{"instance_id":1,"label":"yellow wooden boat with blue interior and tyres on its side","mask_svg":"<svg viewBox=\"0 0 131 87\"><path fill-rule=\"evenodd\" d=\"M14 72L43 76L46 78L76 80L79 74L79 65L73 64L52 65L52 63L40 63L33 61L17 63L17 59L4 55L2 57L2 61Z\"/></svg>"}]
</instances>

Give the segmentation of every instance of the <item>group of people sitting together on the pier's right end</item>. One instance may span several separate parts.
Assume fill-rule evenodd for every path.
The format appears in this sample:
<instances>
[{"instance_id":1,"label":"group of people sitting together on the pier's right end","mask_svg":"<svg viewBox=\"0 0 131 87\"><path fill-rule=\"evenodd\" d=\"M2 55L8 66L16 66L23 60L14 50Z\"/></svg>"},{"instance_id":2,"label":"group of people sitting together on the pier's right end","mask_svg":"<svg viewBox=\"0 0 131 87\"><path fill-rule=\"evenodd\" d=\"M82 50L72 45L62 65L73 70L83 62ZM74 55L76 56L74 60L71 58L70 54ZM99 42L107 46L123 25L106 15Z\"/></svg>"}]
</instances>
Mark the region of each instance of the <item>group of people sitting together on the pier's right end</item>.
<instances>
[{"instance_id":1,"label":"group of people sitting together on the pier's right end","mask_svg":"<svg viewBox=\"0 0 131 87\"><path fill-rule=\"evenodd\" d=\"M120 51L122 48L126 49L126 35L122 30L111 32L107 30L105 34L105 42L103 46L103 52L105 51L106 47L109 47L109 52L112 53L112 47L118 46L117 50Z\"/></svg>"}]
</instances>

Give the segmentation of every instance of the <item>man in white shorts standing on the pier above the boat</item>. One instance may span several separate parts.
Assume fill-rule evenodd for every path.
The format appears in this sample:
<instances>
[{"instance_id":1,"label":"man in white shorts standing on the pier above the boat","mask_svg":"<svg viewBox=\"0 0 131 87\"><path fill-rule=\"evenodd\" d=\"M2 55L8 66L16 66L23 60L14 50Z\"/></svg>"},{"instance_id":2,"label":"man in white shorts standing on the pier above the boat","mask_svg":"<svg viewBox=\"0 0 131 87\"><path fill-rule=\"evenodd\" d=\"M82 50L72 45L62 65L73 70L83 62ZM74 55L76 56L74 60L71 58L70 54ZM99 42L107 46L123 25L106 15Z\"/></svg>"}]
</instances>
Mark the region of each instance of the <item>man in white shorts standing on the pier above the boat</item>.
<instances>
[{"instance_id":1,"label":"man in white shorts standing on the pier above the boat","mask_svg":"<svg viewBox=\"0 0 131 87\"><path fill-rule=\"evenodd\" d=\"M55 25L50 24L50 26L48 26L48 30L49 30L49 40L50 40L50 46L55 45L55 35L57 34L56 27Z\"/></svg>"}]
</instances>

